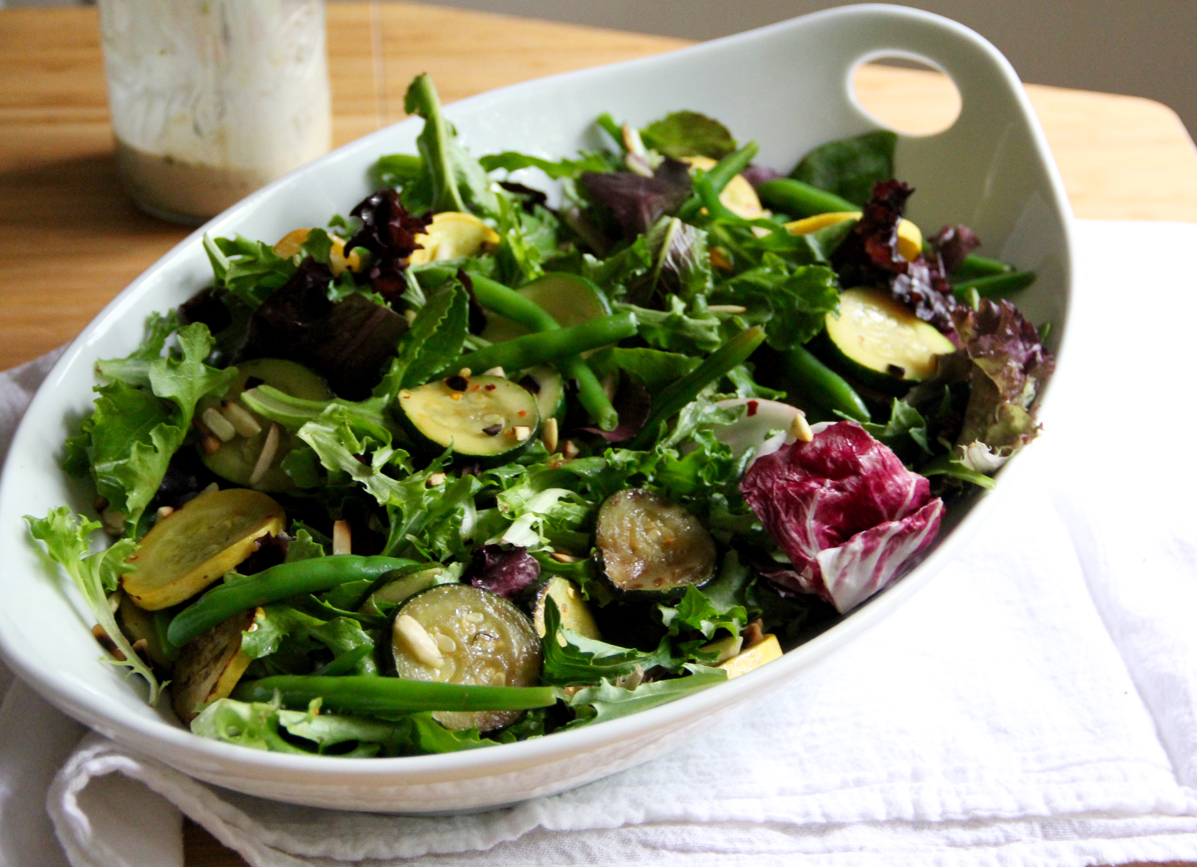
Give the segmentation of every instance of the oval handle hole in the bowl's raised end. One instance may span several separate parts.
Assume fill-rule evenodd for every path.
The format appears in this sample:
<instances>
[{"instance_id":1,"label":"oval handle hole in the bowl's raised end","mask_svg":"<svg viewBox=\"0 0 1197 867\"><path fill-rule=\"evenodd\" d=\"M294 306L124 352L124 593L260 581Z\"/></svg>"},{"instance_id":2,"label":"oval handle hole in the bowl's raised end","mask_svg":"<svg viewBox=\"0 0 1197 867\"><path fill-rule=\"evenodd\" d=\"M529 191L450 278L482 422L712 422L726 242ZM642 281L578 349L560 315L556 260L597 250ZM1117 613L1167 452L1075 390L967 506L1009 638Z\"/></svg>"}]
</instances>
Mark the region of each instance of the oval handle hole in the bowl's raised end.
<instances>
[{"instance_id":1,"label":"oval handle hole in the bowl's raised end","mask_svg":"<svg viewBox=\"0 0 1197 867\"><path fill-rule=\"evenodd\" d=\"M852 71L852 93L877 123L938 135L960 116L960 91L942 69L909 55L874 55Z\"/></svg>"}]
</instances>

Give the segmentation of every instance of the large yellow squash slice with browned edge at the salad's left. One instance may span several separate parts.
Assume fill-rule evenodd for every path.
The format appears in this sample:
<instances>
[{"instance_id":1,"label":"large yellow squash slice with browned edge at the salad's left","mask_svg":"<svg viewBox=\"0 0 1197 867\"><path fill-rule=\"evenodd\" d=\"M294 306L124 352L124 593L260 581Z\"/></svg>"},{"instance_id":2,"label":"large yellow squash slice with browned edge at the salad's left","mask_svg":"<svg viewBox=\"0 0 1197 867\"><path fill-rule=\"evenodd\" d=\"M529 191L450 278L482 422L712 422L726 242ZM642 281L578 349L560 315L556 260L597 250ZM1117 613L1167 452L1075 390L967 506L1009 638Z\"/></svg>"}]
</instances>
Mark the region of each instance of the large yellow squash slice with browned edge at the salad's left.
<instances>
[{"instance_id":1,"label":"large yellow squash slice with browned edge at the salad's left","mask_svg":"<svg viewBox=\"0 0 1197 867\"><path fill-rule=\"evenodd\" d=\"M260 491L201 493L153 526L126 563L121 587L146 611L190 599L255 551L254 540L281 533L282 507Z\"/></svg>"}]
</instances>

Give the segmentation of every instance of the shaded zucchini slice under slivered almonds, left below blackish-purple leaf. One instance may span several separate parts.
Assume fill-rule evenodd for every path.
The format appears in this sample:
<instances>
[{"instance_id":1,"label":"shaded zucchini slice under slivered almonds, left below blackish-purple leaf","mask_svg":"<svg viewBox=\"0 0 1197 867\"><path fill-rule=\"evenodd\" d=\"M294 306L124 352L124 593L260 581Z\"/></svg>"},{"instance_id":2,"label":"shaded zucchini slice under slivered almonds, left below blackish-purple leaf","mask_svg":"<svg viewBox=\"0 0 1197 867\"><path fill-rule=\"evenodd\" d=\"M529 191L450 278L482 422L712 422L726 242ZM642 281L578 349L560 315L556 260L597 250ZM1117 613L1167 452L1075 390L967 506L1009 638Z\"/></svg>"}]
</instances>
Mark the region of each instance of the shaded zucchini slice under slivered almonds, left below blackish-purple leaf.
<instances>
[{"instance_id":1,"label":"shaded zucchini slice under slivered almonds, left below blackish-purple leaf","mask_svg":"<svg viewBox=\"0 0 1197 867\"><path fill-rule=\"evenodd\" d=\"M207 454L202 444L200 457L205 466L223 479L227 479L235 485L254 487L259 491L285 491L292 486L288 477L279 466L282 459L299 444L293 434L288 434L281 426L275 436L278 445L274 449L274 457L260 477L256 484L250 485L254 478L254 469L257 460L266 447L269 436L271 420L249 410L239 400L241 393L249 387L267 384L290 394L292 398L304 400L332 400L334 396L328 390L328 386L311 370L296 362L287 362L281 358L255 358L237 365L237 378L232 381L229 389L218 398L203 398L196 406L195 417L202 423L208 411L217 413L219 418L226 419L233 429L233 436L220 443L212 454ZM242 413L253 419L253 425L237 428L243 424ZM211 418L211 416L209 416ZM251 432L256 426L257 432ZM248 436L247 436L248 434ZM223 438L223 437L221 437Z\"/></svg>"}]
</instances>

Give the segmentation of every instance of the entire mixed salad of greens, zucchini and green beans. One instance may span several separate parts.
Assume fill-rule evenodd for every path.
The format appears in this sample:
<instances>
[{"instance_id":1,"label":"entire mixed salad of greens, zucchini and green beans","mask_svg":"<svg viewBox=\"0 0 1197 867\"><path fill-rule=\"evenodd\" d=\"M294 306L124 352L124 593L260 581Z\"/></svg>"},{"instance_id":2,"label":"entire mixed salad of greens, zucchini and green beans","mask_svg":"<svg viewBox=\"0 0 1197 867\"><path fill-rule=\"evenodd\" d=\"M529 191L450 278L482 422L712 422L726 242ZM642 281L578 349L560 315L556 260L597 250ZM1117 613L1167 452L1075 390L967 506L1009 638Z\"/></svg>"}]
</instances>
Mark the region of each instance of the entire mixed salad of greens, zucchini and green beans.
<instances>
[{"instance_id":1,"label":"entire mixed salad of greens, zucchini and green beans","mask_svg":"<svg viewBox=\"0 0 1197 867\"><path fill-rule=\"evenodd\" d=\"M782 176L694 111L551 160L470 156L426 75L407 110L348 217L205 238L66 443L101 521L29 519L196 734L445 752L704 690L1035 436L1034 277L904 219L893 134Z\"/></svg>"}]
</instances>

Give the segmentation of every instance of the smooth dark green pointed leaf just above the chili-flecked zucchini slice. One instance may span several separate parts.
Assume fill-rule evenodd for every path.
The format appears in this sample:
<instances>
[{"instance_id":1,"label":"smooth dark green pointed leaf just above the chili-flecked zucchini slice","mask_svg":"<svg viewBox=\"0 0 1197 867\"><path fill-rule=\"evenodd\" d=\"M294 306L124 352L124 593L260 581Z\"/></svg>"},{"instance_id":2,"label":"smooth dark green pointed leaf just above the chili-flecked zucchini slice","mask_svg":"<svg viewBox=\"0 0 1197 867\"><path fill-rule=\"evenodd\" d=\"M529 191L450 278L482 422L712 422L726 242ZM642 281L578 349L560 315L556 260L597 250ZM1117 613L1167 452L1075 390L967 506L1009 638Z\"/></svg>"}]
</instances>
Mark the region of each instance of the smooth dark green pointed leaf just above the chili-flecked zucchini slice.
<instances>
[{"instance_id":1,"label":"smooth dark green pointed leaf just above the chili-flecked zucchini slice","mask_svg":"<svg viewBox=\"0 0 1197 867\"><path fill-rule=\"evenodd\" d=\"M454 280L448 289L429 299L411 329L400 339L397 354L375 395L394 400L401 388L424 384L461 354L468 333L469 296Z\"/></svg>"}]
</instances>

